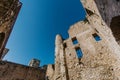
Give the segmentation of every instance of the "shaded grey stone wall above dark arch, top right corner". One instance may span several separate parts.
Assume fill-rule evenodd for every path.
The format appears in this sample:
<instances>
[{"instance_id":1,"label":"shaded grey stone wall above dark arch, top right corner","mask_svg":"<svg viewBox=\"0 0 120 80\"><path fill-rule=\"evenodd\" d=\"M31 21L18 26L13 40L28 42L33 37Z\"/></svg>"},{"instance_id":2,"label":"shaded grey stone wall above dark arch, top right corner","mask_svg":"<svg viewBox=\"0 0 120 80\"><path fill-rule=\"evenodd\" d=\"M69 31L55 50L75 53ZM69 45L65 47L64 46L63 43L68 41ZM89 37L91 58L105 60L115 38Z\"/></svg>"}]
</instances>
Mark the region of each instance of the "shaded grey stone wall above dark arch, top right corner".
<instances>
[{"instance_id":1,"label":"shaded grey stone wall above dark arch, top right corner","mask_svg":"<svg viewBox=\"0 0 120 80\"><path fill-rule=\"evenodd\" d=\"M95 0L102 19L110 26L113 17L120 16L120 0Z\"/></svg>"}]
</instances>

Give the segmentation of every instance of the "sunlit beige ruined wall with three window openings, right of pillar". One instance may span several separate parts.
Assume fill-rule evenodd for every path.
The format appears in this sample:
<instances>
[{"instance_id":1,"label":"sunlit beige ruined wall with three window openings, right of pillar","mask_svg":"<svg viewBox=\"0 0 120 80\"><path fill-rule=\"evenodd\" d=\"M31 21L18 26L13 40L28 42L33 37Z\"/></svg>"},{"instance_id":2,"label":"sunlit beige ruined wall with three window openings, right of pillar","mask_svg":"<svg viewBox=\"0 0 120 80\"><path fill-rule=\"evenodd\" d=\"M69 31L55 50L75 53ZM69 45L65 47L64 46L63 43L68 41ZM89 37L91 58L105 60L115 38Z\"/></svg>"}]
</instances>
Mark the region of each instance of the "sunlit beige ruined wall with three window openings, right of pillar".
<instances>
[{"instance_id":1,"label":"sunlit beige ruined wall with three window openings, right of pillar","mask_svg":"<svg viewBox=\"0 0 120 80\"><path fill-rule=\"evenodd\" d=\"M69 80L120 79L120 73L116 73L120 69L120 65L118 65L120 62L117 60L119 55L115 54L114 48L111 48L109 43L112 42L109 42L105 38L105 34L98 29L103 27L101 18L93 14L88 16L87 20L88 22L82 21L71 26L69 29L70 38L64 41L64 44L67 45L65 55ZM110 31L110 29L108 28L105 31ZM100 41L95 40L94 34L100 37ZM113 37L112 34L107 34L107 36ZM74 37L78 40L77 44L73 44L72 39ZM80 48L83 53L81 59L78 58L77 48ZM116 48L118 48L116 53L119 53L120 48ZM118 64L116 65L116 63Z\"/></svg>"}]
</instances>

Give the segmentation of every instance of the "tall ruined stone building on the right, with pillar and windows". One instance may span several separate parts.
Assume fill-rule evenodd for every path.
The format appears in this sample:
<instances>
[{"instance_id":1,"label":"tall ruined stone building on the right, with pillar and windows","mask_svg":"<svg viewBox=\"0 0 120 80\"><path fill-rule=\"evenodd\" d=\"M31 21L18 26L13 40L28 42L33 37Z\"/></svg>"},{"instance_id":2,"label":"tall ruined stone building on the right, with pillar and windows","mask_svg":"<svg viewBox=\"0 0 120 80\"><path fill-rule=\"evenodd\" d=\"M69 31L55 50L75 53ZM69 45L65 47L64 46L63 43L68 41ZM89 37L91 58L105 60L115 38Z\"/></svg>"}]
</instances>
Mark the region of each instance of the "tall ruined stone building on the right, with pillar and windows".
<instances>
[{"instance_id":1,"label":"tall ruined stone building on the right, with pillar and windows","mask_svg":"<svg viewBox=\"0 0 120 80\"><path fill-rule=\"evenodd\" d=\"M68 39L56 36L55 68L49 65L46 76L49 80L120 80L120 1L81 2L86 19L70 27Z\"/></svg>"}]
</instances>

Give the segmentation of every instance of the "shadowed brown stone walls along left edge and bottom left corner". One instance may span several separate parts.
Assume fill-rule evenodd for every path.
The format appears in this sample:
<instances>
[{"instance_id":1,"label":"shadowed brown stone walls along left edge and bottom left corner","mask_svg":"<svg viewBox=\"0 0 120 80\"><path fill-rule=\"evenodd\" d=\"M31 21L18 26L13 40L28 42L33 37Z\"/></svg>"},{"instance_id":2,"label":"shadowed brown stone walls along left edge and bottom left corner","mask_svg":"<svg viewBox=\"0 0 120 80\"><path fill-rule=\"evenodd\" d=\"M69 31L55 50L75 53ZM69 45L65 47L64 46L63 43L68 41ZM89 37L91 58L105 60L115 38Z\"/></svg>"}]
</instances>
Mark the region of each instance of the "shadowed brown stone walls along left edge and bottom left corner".
<instances>
[{"instance_id":1,"label":"shadowed brown stone walls along left edge and bottom left corner","mask_svg":"<svg viewBox=\"0 0 120 80\"><path fill-rule=\"evenodd\" d=\"M45 80L45 67L30 67L2 61L9 51L5 45L21 6L19 0L0 0L0 80Z\"/></svg>"}]
</instances>

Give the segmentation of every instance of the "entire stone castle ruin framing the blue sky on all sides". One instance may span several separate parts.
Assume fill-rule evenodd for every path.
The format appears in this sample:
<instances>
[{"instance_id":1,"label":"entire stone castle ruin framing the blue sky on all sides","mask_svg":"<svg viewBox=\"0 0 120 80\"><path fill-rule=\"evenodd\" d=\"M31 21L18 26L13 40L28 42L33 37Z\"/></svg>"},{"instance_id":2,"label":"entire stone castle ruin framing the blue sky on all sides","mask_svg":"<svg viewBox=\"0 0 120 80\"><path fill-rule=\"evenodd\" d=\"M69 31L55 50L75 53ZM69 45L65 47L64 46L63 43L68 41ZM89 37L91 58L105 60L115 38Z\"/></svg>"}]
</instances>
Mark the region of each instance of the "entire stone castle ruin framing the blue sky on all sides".
<instances>
[{"instance_id":1,"label":"entire stone castle ruin framing the blue sky on all sides","mask_svg":"<svg viewBox=\"0 0 120 80\"><path fill-rule=\"evenodd\" d=\"M31 66L24 66L1 60L0 80L120 80L120 0L81 2L86 19L70 26L68 39L56 36L55 64L38 67L39 60L33 59ZM3 11L10 3L15 9ZM20 6L18 0L0 1L1 59Z\"/></svg>"}]
</instances>

